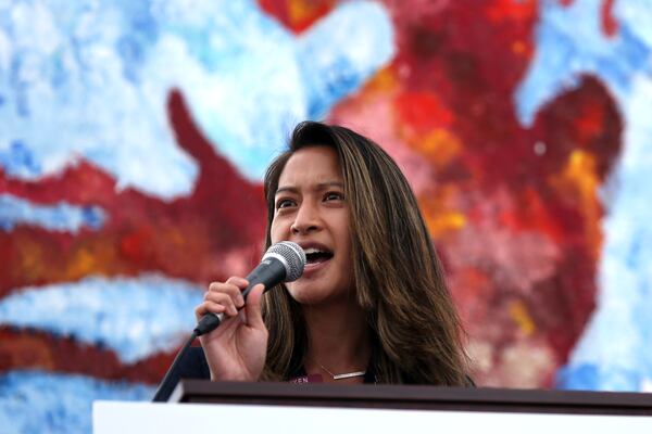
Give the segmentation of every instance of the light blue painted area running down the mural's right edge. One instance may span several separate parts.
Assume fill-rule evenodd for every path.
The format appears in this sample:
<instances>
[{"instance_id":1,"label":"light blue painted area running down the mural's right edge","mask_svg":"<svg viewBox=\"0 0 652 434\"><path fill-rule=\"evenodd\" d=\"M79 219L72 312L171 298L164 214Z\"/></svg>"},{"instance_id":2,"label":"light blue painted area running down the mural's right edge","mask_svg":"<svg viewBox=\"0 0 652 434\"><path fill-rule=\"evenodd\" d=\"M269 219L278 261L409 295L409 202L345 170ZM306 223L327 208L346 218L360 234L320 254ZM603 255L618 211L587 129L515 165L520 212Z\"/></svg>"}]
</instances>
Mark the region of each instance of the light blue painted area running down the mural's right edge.
<instances>
[{"instance_id":1,"label":"light blue painted area running down the mural's right edge","mask_svg":"<svg viewBox=\"0 0 652 434\"><path fill-rule=\"evenodd\" d=\"M600 28L600 13L593 1L542 3L537 55L516 102L527 125L547 100L575 87L586 74L599 77L615 95L625 146L615 175L602 189L610 213L602 222L599 304L557 383L642 391L652 380L652 233L647 224L652 190L644 187L652 170L652 12L641 2L615 2L617 29L611 35Z\"/></svg>"}]
</instances>

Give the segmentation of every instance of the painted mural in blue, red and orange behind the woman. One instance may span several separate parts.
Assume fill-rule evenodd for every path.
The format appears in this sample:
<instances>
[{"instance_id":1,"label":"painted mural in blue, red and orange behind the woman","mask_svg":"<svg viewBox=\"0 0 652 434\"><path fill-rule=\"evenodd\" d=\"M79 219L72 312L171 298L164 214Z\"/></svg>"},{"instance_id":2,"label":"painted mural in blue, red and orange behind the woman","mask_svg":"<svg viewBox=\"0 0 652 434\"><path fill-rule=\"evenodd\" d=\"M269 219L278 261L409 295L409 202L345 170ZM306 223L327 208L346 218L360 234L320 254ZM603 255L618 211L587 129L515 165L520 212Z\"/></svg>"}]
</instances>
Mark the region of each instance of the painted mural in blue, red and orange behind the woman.
<instances>
[{"instance_id":1,"label":"painted mural in blue, red and orange behind the woman","mask_svg":"<svg viewBox=\"0 0 652 434\"><path fill-rule=\"evenodd\" d=\"M149 399L296 123L418 196L481 386L652 390L647 0L0 1L0 426Z\"/></svg>"}]
</instances>

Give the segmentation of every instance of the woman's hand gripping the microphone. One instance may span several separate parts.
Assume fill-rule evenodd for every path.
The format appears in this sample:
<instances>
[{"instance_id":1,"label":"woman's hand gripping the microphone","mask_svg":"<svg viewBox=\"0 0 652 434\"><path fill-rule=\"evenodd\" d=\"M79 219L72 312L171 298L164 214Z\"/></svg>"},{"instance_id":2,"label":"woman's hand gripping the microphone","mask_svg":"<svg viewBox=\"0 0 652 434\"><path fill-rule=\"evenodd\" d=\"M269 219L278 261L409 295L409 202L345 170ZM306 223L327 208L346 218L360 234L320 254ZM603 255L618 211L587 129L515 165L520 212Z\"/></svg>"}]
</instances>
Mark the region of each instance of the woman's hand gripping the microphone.
<instances>
[{"instance_id":1,"label":"woman's hand gripping the microphone","mask_svg":"<svg viewBox=\"0 0 652 434\"><path fill-rule=\"evenodd\" d=\"M255 285L244 306L241 292L249 282L231 277L226 282L213 282L204 302L195 309L199 321L209 312L224 312L224 321L210 333L199 337L203 347L211 380L258 381L267 352L267 329L261 315L263 284Z\"/></svg>"}]
</instances>

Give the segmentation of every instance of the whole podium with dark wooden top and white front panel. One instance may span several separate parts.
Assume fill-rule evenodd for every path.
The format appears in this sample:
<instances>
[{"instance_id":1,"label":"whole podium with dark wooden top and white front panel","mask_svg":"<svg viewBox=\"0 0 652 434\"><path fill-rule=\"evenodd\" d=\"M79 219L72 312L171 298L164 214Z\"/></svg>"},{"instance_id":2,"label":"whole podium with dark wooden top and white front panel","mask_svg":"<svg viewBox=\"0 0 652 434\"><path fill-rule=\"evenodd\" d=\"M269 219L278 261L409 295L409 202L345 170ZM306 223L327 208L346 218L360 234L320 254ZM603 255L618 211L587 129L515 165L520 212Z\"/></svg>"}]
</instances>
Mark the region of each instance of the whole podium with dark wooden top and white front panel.
<instances>
[{"instance_id":1,"label":"whole podium with dark wooden top and white front panel","mask_svg":"<svg viewBox=\"0 0 652 434\"><path fill-rule=\"evenodd\" d=\"M97 401L93 432L652 433L652 394L179 382L167 404Z\"/></svg>"}]
</instances>

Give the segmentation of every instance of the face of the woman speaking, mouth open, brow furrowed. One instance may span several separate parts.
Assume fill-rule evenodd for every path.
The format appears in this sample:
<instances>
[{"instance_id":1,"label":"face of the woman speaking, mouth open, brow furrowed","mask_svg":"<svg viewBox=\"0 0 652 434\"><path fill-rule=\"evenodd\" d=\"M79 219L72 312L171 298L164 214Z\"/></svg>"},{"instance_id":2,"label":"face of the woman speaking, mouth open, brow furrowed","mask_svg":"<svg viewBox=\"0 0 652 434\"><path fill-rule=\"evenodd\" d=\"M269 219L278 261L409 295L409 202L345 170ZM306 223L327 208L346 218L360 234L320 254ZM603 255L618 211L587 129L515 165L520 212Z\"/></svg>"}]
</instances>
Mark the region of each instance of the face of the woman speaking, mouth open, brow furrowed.
<instances>
[{"instance_id":1,"label":"face of the woman speaking, mouth open, brow furrowed","mask_svg":"<svg viewBox=\"0 0 652 434\"><path fill-rule=\"evenodd\" d=\"M337 152L297 151L278 179L272 242L293 241L305 251L303 276L286 284L304 305L347 301L351 286L349 205Z\"/></svg>"}]
</instances>

